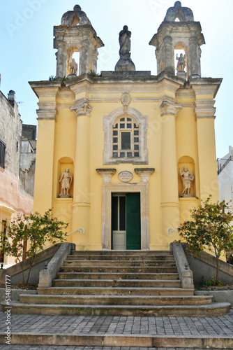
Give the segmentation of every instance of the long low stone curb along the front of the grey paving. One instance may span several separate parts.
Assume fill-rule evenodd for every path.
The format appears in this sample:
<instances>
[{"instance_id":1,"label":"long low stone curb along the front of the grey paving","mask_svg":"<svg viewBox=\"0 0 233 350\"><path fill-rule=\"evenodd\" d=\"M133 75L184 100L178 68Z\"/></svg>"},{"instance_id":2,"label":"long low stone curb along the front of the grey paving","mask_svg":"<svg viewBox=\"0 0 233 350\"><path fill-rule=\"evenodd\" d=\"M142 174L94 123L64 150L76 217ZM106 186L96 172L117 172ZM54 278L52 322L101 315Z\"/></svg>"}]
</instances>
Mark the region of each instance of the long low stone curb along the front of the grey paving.
<instances>
[{"instance_id":1,"label":"long low stone curb along the front of the grey paving","mask_svg":"<svg viewBox=\"0 0 233 350\"><path fill-rule=\"evenodd\" d=\"M5 344L6 335L0 332L0 344ZM177 335L70 335L15 332L10 335L14 345L71 345L71 346L143 346L186 347L202 349L232 349L232 337L224 336L177 336Z\"/></svg>"}]
</instances>

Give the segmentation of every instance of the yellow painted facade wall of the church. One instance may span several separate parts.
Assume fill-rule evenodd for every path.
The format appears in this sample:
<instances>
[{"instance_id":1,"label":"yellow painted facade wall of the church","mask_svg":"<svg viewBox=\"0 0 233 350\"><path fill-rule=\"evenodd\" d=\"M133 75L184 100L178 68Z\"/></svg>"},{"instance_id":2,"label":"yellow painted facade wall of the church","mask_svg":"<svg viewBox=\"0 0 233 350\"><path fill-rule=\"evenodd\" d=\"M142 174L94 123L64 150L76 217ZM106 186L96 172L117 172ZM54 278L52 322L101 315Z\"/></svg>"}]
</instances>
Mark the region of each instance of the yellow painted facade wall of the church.
<instances>
[{"instance_id":1,"label":"yellow painted facade wall of the church","mask_svg":"<svg viewBox=\"0 0 233 350\"><path fill-rule=\"evenodd\" d=\"M66 94L55 99L56 121L38 120L34 210L43 213L52 207L55 216L70 223L68 232L80 227L85 229L85 235L75 232L68 241L75 242L78 249L100 250L103 179L96 169L117 169L112 176L112 183L121 183L118 174L127 170L133 174L130 183L139 183L140 176L135 174L134 169L154 168L155 172L149 178L150 248L168 249L170 242L179 237L176 233L167 233L167 228L176 229L181 221L188 218L189 209L199 204L195 196L205 200L205 196L212 193L213 200L218 199L213 118L196 119L195 92L179 93L176 97L176 90L182 81L170 83L169 78L159 84L156 81L89 83L84 78L80 83L72 85L69 82L68 85L70 87L66 88ZM50 89L48 85L46 88ZM125 91L130 94L130 108L148 117L146 140L149 162L146 165L103 165L103 120L112 111L122 108L121 94ZM92 108L91 116L76 116L75 111L69 107L85 98ZM213 95L203 94L203 99L211 98ZM174 124L175 134L171 134L169 129L162 132L166 121L160 116L160 104L164 99L182 107L176 116L169 117L174 120L171 123ZM200 96L198 99L201 99ZM54 97L46 97L46 102L54 102ZM167 139L162 139L165 134ZM170 148L172 144L175 144L175 152ZM170 154L171 158L168 159ZM174 176L167 180L167 186L161 185L162 164L163 169L171 168L174 172ZM183 170L185 165L195 175L191 188L192 198L179 198L182 183L178 169L181 167ZM63 199L58 197L61 190L58 181L66 167L74 179L70 190L72 198ZM174 201L162 205L163 200L169 202L171 195Z\"/></svg>"}]
</instances>

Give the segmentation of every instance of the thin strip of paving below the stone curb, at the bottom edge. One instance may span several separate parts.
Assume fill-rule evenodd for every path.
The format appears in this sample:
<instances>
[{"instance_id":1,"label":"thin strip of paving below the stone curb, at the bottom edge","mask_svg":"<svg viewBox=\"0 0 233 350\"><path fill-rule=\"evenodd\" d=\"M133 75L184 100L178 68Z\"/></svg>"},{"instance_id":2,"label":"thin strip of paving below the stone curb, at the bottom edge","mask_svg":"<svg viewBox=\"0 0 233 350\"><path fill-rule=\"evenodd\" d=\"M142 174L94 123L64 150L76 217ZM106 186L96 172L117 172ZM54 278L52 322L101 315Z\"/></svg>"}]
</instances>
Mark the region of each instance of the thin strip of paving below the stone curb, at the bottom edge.
<instances>
[{"instance_id":1,"label":"thin strip of paving below the stone curb, at the bottom edge","mask_svg":"<svg viewBox=\"0 0 233 350\"><path fill-rule=\"evenodd\" d=\"M155 348L137 346L54 346L54 345L0 345L0 349L8 350L155 350ZM196 348L156 348L156 350L206 350ZM224 350L224 349L208 349Z\"/></svg>"}]
</instances>

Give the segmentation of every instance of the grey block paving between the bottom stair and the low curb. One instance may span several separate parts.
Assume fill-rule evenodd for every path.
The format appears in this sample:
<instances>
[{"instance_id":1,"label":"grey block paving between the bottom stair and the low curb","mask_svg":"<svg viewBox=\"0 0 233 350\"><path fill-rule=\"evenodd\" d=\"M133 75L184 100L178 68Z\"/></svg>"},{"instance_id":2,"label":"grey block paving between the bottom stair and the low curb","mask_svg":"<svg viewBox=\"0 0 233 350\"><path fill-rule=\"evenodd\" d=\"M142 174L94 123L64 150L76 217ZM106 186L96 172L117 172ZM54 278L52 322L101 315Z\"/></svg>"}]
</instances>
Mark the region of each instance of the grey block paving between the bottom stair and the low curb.
<instances>
[{"instance_id":1,"label":"grey block paving between the bottom stair and the low curb","mask_svg":"<svg viewBox=\"0 0 233 350\"><path fill-rule=\"evenodd\" d=\"M233 310L228 315L217 317L47 316L11 314L10 321L11 332L47 334L68 332L73 335L91 335L93 333L97 333L98 335L106 335L108 333L114 335L220 335L233 337ZM0 312L0 332L6 330L5 323L6 314Z\"/></svg>"}]
</instances>

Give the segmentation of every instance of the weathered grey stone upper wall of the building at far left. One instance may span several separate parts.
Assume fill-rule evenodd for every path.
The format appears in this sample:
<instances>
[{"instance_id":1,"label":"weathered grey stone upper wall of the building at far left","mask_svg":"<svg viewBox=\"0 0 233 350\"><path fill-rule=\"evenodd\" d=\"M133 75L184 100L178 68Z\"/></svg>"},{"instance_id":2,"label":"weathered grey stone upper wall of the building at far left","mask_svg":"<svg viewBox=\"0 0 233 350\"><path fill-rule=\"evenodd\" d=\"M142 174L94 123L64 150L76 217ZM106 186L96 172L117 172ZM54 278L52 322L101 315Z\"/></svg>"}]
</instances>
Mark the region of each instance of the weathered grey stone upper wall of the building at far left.
<instances>
[{"instance_id":1,"label":"weathered grey stone upper wall of the building at far left","mask_svg":"<svg viewBox=\"0 0 233 350\"><path fill-rule=\"evenodd\" d=\"M14 106L0 91L0 139L6 144L5 170L19 179L22 120Z\"/></svg>"}]
</instances>

